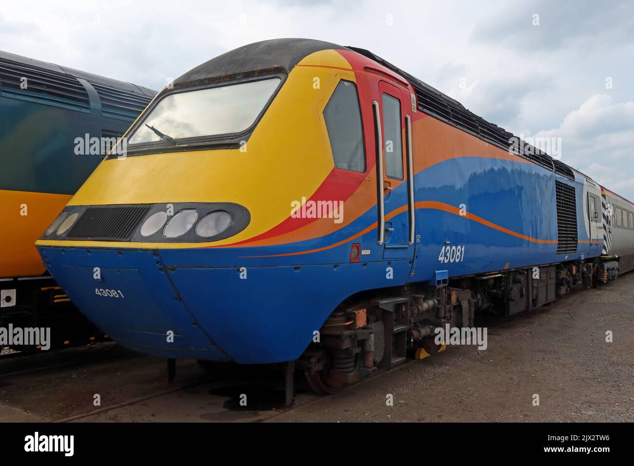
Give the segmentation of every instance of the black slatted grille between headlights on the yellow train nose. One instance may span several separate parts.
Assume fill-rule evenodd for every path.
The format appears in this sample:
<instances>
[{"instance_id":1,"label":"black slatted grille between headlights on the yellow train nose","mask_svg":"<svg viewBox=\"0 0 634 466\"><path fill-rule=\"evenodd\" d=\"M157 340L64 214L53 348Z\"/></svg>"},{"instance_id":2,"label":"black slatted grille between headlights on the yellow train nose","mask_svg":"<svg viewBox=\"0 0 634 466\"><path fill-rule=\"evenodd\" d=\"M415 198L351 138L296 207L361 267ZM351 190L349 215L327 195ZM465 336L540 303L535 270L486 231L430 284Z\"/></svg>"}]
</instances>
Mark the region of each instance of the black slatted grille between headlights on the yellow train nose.
<instances>
[{"instance_id":1,"label":"black slatted grille between headlights on the yellow train nose","mask_svg":"<svg viewBox=\"0 0 634 466\"><path fill-rule=\"evenodd\" d=\"M74 240L129 241L149 205L88 207L68 231Z\"/></svg>"}]
</instances>

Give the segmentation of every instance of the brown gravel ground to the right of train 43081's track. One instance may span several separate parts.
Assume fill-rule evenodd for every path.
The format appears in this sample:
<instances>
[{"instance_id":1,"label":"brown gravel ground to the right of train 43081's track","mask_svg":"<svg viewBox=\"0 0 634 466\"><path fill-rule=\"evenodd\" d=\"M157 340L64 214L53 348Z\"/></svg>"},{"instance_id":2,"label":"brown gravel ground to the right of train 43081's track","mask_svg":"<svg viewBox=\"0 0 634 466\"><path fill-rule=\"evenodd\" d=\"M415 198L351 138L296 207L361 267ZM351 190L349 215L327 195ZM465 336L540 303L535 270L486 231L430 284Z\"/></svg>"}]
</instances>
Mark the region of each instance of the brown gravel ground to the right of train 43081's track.
<instances>
[{"instance_id":1,"label":"brown gravel ground to the right of train 43081's track","mask_svg":"<svg viewBox=\"0 0 634 466\"><path fill-rule=\"evenodd\" d=\"M273 421L632 422L633 311L630 273L491 328L484 351L448 347Z\"/></svg>"}]
</instances>

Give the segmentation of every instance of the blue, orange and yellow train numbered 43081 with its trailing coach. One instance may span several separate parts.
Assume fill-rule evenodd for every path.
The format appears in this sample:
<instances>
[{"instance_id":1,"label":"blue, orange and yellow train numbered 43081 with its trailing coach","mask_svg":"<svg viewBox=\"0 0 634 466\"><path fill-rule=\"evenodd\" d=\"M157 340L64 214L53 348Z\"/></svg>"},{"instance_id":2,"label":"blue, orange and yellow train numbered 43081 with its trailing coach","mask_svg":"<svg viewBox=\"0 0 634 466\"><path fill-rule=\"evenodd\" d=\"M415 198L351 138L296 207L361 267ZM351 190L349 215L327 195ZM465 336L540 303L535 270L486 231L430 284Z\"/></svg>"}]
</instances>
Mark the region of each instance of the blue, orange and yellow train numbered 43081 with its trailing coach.
<instances>
[{"instance_id":1,"label":"blue, orange and yellow train numbered 43081 with its trailing coach","mask_svg":"<svg viewBox=\"0 0 634 466\"><path fill-rule=\"evenodd\" d=\"M631 217L608 214L624 225L634 205L364 49L235 49L127 137L37 246L143 353L294 361L332 393L443 349L439 326L631 268Z\"/></svg>"}]
</instances>

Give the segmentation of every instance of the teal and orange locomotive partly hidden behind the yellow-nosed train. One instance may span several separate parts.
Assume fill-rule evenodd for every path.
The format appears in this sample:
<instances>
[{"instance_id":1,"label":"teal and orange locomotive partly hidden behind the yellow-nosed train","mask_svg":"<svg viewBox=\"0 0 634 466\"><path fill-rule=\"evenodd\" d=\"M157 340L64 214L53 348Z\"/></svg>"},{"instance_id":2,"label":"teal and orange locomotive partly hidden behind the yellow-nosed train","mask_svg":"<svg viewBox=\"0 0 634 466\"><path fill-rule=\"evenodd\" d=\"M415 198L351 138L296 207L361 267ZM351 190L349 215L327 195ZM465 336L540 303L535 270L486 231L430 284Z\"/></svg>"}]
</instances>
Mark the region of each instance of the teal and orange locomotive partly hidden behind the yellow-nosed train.
<instances>
[{"instance_id":1,"label":"teal and orange locomotive partly hidden behind the yellow-nosed train","mask_svg":"<svg viewBox=\"0 0 634 466\"><path fill-rule=\"evenodd\" d=\"M0 327L49 327L51 344L97 338L34 243L103 159L76 139L120 138L155 94L0 51Z\"/></svg>"}]
</instances>

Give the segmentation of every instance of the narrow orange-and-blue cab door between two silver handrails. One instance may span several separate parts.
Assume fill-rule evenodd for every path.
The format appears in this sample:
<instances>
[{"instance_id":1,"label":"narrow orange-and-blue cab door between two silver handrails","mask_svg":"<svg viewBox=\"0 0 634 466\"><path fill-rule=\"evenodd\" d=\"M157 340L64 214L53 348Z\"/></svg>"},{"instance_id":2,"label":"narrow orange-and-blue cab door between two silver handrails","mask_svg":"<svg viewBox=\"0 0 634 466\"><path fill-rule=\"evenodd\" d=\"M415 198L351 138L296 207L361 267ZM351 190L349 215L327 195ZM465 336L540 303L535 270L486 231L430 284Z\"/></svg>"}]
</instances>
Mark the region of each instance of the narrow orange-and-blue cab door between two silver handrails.
<instances>
[{"instance_id":1,"label":"narrow orange-and-blue cab door between two silver handrails","mask_svg":"<svg viewBox=\"0 0 634 466\"><path fill-rule=\"evenodd\" d=\"M405 100L407 96L408 100ZM414 250L411 108L409 91L378 82L373 101L377 133L378 243L385 259L410 259Z\"/></svg>"}]
</instances>

